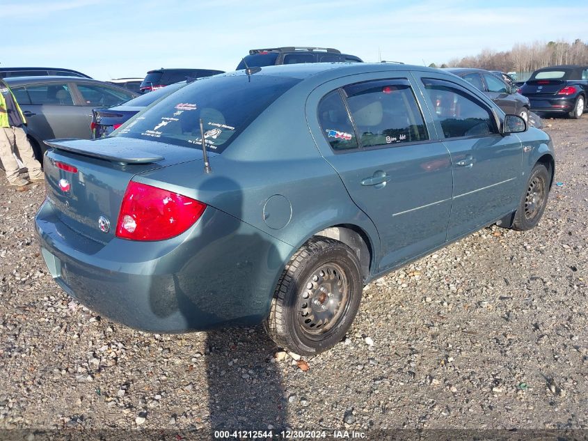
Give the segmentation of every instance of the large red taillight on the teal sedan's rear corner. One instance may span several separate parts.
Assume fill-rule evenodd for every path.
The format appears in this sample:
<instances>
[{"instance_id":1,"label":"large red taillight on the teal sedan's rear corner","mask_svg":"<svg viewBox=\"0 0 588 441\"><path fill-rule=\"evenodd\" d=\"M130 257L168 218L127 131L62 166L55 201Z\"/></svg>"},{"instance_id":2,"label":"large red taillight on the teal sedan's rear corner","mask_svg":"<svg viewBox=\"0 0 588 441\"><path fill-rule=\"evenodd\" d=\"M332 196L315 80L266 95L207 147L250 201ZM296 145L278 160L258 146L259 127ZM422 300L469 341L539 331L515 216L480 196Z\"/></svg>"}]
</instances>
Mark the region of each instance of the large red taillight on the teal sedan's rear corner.
<instances>
[{"instance_id":1,"label":"large red taillight on the teal sedan's rear corner","mask_svg":"<svg viewBox=\"0 0 588 441\"><path fill-rule=\"evenodd\" d=\"M151 185L130 182L122 199L116 237L164 240L184 233L196 222L206 204Z\"/></svg>"}]
</instances>

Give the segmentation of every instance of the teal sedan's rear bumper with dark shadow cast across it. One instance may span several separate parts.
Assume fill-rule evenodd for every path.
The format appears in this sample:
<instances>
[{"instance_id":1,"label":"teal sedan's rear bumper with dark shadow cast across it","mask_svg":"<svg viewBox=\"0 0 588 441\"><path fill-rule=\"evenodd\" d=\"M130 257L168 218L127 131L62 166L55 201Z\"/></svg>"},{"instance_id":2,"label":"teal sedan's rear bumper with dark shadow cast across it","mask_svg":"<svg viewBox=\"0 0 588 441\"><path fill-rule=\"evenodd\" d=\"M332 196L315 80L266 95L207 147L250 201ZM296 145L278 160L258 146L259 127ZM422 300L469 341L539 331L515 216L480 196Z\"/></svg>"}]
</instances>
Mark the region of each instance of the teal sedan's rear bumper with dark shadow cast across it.
<instances>
[{"instance_id":1,"label":"teal sedan's rear bumper with dark shadow cast across it","mask_svg":"<svg viewBox=\"0 0 588 441\"><path fill-rule=\"evenodd\" d=\"M150 332L260 323L292 252L211 207L191 229L159 242L95 242L63 224L49 201L35 229L45 263L67 294L97 314Z\"/></svg>"}]
</instances>

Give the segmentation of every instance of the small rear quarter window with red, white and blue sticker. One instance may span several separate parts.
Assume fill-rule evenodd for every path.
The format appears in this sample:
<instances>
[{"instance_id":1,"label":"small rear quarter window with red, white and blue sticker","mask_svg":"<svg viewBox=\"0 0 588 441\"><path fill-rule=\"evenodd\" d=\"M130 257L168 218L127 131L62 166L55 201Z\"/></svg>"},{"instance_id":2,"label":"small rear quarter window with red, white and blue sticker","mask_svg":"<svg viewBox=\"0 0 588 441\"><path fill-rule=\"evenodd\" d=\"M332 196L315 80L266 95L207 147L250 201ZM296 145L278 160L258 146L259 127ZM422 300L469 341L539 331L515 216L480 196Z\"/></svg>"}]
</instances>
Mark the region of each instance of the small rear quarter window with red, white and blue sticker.
<instances>
[{"instance_id":1,"label":"small rear quarter window with red, white and blue sticker","mask_svg":"<svg viewBox=\"0 0 588 441\"><path fill-rule=\"evenodd\" d=\"M318 116L321 129L333 150L358 148L355 130L349 118L349 111L337 89L324 96L319 103Z\"/></svg>"}]
</instances>

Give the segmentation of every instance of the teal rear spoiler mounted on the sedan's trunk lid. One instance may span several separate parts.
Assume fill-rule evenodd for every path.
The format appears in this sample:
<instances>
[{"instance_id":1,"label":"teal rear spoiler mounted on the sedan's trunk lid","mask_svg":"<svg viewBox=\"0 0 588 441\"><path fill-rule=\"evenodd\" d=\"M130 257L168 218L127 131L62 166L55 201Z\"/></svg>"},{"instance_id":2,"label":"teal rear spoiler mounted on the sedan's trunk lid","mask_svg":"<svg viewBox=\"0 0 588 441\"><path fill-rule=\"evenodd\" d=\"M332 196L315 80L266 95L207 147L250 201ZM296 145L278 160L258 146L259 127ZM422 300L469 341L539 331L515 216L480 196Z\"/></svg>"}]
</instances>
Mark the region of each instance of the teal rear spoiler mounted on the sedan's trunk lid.
<instances>
[{"instance_id":1,"label":"teal rear spoiler mounted on the sedan's trunk lid","mask_svg":"<svg viewBox=\"0 0 588 441\"><path fill-rule=\"evenodd\" d=\"M45 141L45 144L56 150L77 153L78 155L88 157L97 157L100 160L116 162L117 164L150 164L165 159L163 156L145 153L128 146L116 146L115 148L109 146L110 148L108 148L108 150L98 151L92 148L92 142L93 141L88 141L87 139L65 138L49 139L49 141Z\"/></svg>"}]
</instances>

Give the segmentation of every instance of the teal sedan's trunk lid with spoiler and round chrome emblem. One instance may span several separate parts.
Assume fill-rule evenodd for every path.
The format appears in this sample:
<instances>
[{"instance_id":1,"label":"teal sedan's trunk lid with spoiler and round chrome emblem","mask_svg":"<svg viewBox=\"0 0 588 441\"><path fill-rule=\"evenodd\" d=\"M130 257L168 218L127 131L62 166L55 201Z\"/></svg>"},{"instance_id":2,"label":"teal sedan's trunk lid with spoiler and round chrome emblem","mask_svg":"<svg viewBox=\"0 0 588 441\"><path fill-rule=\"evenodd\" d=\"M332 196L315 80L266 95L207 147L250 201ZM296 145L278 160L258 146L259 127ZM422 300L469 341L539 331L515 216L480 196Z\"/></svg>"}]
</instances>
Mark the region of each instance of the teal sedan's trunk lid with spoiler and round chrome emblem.
<instances>
[{"instance_id":1,"label":"teal sedan's trunk lid with spoiler and round chrome emblem","mask_svg":"<svg viewBox=\"0 0 588 441\"><path fill-rule=\"evenodd\" d=\"M44 162L47 199L63 224L103 244L115 237L120 205L133 176L202 160L201 150L129 138L56 139L46 144L53 148ZM200 170L194 166L195 173Z\"/></svg>"}]
</instances>

